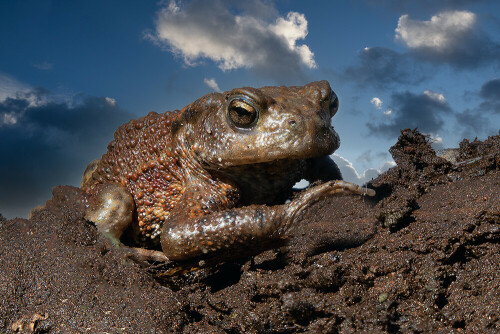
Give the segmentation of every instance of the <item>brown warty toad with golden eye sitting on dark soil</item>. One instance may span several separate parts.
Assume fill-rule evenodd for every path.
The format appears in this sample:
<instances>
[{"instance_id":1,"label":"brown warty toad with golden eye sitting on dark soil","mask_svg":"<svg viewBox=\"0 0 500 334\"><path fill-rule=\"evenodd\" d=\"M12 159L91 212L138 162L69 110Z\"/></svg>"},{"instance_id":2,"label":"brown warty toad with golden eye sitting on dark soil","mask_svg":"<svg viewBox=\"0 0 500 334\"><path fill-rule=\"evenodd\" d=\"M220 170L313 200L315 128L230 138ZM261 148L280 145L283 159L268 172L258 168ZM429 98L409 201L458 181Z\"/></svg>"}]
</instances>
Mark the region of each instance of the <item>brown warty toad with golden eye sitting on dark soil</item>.
<instances>
[{"instance_id":1,"label":"brown warty toad with golden eye sitting on dark soil","mask_svg":"<svg viewBox=\"0 0 500 334\"><path fill-rule=\"evenodd\" d=\"M126 231L142 248L161 245L174 261L276 247L319 199L374 195L342 181L329 157L338 105L319 81L212 93L132 120L84 173L86 218L113 239ZM302 178L315 185L287 202Z\"/></svg>"}]
</instances>

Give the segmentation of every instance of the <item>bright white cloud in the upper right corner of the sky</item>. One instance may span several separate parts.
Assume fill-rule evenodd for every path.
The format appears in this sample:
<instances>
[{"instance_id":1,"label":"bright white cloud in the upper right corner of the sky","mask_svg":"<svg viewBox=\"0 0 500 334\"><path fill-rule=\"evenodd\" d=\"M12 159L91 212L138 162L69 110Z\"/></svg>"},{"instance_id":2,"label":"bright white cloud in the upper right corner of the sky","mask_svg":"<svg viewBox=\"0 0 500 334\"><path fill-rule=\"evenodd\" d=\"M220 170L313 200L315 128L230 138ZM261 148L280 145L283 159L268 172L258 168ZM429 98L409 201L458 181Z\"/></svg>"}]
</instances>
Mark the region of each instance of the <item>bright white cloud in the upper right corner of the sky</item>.
<instances>
[{"instance_id":1,"label":"bright white cloud in the upper right corner of the sky","mask_svg":"<svg viewBox=\"0 0 500 334\"><path fill-rule=\"evenodd\" d=\"M468 11L445 11L432 16L430 21L412 20L403 15L399 18L395 38L412 49L447 51L459 45L475 23L476 15Z\"/></svg>"}]
</instances>

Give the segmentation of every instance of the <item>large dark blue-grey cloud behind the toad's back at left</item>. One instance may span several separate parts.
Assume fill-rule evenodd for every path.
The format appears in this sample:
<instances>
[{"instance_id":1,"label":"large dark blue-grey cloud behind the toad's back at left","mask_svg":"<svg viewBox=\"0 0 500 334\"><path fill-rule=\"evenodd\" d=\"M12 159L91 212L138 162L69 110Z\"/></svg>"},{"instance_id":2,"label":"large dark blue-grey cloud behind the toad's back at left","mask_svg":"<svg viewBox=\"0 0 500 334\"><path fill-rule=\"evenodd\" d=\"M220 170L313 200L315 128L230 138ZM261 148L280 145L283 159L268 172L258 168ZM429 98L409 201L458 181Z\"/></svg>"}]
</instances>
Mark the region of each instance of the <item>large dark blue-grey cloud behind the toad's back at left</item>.
<instances>
[{"instance_id":1,"label":"large dark blue-grey cloud behind the toad's back at left","mask_svg":"<svg viewBox=\"0 0 500 334\"><path fill-rule=\"evenodd\" d=\"M26 216L58 184L78 185L117 126L132 118L113 99L58 101L44 89L0 101L0 213Z\"/></svg>"}]
</instances>

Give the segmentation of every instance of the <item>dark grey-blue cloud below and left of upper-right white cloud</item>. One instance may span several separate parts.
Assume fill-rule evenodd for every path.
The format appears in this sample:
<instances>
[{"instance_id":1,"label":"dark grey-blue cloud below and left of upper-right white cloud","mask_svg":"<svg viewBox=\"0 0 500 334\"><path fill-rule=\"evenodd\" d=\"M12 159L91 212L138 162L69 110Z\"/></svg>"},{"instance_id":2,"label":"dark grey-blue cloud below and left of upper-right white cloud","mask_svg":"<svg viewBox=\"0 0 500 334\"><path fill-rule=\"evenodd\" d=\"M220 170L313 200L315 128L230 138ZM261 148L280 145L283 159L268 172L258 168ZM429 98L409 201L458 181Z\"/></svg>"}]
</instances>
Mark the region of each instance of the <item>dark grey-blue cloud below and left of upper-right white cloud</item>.
<instances>
[{"instance_id":1,"label":"dark grey-blue cloud below and left of upper-right white cloud","mask_svg":"<svg viewBox=\"0 0 500 334\"><path fill-rule=\"evenodd\" d=\"M384 47L366 47L355 65L343 76L359 85L384 89L401 84L418 84L427 78L422 65L406 54Z\"/></svg>"}]
</instances>

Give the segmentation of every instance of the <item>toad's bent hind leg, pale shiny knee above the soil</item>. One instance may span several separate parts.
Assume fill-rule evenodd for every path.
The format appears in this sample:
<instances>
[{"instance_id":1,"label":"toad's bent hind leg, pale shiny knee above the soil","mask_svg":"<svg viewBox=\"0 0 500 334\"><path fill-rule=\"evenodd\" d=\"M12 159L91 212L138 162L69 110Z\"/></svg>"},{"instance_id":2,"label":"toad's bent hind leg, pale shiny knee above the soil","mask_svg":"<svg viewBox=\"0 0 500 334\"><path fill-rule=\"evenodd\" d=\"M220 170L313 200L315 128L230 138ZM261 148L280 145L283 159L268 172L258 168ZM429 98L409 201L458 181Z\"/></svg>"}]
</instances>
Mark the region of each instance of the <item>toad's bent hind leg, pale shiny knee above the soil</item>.
<instances>
[{"instance_id":1,"label":"toad's bent hind leg, pale shiny knee above the soil","mask_svg":"<svg viewBox=\"0 0 500 334\"><path fill-rule=\"evenodd\" d=\"M118 183L96 185L87 195L85 219L93 222L97 230L119 243L125 229L132 223L134 199Z\"/></svg>"}]
</instances>

